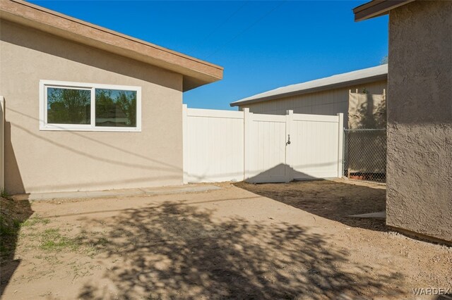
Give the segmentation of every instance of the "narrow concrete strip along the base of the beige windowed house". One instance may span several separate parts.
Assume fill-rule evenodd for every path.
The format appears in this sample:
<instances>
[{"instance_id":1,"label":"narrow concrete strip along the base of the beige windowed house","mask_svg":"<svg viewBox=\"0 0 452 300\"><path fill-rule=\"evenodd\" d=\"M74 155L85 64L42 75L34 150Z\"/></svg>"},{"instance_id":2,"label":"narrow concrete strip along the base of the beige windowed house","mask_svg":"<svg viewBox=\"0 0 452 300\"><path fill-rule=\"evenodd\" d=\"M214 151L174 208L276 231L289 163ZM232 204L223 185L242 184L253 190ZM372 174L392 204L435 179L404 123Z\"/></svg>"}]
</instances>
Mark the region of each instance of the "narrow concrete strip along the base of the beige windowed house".
<instances>
[{"instance_id":1,"label":"narrow concrete strip along the base of the beige windowed house","mask_svg":"<svg viewBox=\"0 0 452 300\"><path fill-rule=\"evenodd\" d=\"M102 198L119 196L137 196L137 195L162 195L162 194L181 194L207 192L220 189L215 185L182 185L171 187L145 187L136 189L111 189L107 191L90 192L55 192L55 193L32 193L18 194L13 198L16 200L49 200L49 199L81 199L81 198Z\"/></svg>"}]
</instances>

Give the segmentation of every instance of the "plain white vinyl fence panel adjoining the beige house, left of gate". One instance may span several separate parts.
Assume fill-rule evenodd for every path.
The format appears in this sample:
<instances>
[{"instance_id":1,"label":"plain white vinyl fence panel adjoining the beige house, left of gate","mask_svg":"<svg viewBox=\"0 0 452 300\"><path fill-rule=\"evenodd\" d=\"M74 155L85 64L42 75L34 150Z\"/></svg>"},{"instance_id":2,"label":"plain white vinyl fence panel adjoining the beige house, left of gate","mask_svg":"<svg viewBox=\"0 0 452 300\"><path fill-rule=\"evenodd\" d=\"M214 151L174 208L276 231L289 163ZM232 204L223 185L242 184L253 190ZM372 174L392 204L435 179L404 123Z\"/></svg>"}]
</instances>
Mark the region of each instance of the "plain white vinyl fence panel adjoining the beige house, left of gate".
<instances>
[{"instance_id":1,"label":"plain white vinyl fence panel adjoining the beige house, left of gate","mask_svg":"<svg viewBox=\"0 0 452 300\"><path fill-rule=\"evenodd\" d=\"M242 181L244 113L186 108L184 182Z\"/></svg>"}]
</instances>

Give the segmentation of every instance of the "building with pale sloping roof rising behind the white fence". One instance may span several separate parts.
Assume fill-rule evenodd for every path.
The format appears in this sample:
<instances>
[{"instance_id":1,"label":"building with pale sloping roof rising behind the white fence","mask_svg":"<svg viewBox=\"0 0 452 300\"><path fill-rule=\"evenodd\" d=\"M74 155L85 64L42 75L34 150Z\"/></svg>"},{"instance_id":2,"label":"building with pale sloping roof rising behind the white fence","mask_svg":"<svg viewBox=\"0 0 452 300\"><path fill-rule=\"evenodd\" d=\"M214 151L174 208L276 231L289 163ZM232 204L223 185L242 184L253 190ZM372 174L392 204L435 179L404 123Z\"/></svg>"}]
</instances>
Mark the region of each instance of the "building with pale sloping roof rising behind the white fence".
<instances>
[{"instance_id":1,"label":"building with pale sloping roof rising behind the white fence","mask_svg":"<svg viewBox=\"0 0 452 300\"><path fill-rule=\"evenodd\" d=\"M279 87L261 94L234 101L240 111L249 108L251 113L285 115L286 111L314 115L343 113L347 120L349 93L365 92L383 94L388 87L388 65L355 70L348 73ZM347 127L347 122L345 122Z\"/></svg>"}]
</instances>

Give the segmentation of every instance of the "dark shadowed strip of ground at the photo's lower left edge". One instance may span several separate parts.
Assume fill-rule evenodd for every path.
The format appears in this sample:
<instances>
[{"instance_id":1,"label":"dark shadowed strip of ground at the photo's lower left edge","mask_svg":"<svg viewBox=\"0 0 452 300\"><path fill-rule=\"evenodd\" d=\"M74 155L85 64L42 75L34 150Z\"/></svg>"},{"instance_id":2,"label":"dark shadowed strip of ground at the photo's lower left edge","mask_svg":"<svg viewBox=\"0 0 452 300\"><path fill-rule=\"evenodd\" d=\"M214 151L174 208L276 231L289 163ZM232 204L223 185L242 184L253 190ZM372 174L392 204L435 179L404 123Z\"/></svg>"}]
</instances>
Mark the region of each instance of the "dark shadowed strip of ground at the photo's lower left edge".
<instances>
[{"instance_id":1,"label":"dark shadowed strip of ground at the photo's lower left edge","mask_svg":"<svg viewBox=\"0 0 452 300\"><path fill-rule=\"evenodd\" d=\"M14 259L20 226L33 211L29 201L16 201L0 197L0 296L20 265Z\"/></svg>"}]
</instances>

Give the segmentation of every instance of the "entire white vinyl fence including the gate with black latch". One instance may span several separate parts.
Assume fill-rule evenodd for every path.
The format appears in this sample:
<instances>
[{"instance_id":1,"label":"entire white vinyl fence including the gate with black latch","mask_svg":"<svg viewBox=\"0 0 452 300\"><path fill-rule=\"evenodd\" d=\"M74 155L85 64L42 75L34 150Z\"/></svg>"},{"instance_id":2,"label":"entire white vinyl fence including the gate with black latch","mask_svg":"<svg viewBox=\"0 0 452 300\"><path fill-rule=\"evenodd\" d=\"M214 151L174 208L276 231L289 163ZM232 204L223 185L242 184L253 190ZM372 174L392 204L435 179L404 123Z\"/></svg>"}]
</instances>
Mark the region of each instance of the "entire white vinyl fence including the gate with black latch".
<instances>
[{"instance_id":1,"label":"entire white vinyl fence including the gate with black latch","mask_svg":"<svg viewBox=\"0 0 452 300\"><path fill-rule=\"evenodd\" d=\"M263 115L184 105L184 182L343 175L343 115Z\"/></svg>"}]
</instances>

